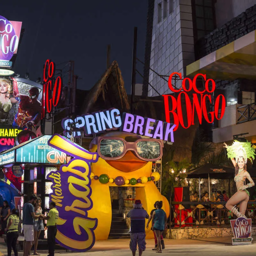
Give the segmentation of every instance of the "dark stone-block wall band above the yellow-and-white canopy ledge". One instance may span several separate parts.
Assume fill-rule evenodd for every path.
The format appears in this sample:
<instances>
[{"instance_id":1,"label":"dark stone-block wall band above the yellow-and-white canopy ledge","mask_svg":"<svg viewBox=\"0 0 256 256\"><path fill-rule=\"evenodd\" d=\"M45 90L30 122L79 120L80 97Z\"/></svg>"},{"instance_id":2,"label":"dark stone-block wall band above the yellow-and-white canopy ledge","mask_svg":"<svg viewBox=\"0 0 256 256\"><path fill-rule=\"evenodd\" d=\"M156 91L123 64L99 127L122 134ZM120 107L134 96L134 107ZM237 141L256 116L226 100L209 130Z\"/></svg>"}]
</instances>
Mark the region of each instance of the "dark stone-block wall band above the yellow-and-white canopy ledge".
<instances>
[{"instance_id":1,"label":"dark stone-block wall band above the yellow-and-white canopy ledge","mask_svg":"<svg viewBox=\"0 0 256 256\"><path fill-rule=\"evenodd\" d=\"M195 44L196 59L220 49L256 29L256 4L222 27L199 39Z\"/></svg>"}]
</instances>

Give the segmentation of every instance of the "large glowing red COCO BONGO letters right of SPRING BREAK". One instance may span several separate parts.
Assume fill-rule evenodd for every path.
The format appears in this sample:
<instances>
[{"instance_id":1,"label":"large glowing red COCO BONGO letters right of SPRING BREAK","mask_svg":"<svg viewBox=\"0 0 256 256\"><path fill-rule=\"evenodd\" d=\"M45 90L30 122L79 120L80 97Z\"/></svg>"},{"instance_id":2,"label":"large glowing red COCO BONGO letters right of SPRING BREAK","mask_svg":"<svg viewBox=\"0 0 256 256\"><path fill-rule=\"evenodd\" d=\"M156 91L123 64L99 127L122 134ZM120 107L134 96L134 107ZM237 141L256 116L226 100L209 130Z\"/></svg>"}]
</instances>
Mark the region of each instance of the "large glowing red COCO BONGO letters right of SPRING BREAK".
<instances>
[{"instance_id":1,"label":"large glowing red COCO BONGO letters right of SPRING BREAK","mask_svg":"<svg viewBox=\"0 0 256 256\"><path fill-rule=\"evenodd\" d=\"M225 113L225 107L226 107L226 101L224 98L224 95L220 94L216 97L216 100L214 102L214 110L211 112L208 112L206 105L212 104L212 97L210 94L204 94L204 93L213 93L216 84L213 79L207 79L206 75L203 74L197 74L193 80L186 77L182 80L182 88L175 89L172 86L172 76L178 75L181 79L181 73L174 72L169 76L168 79L168 86L172 92L179 92L179 95L177 99L172 95L162 95L164 97L164 109L165 109L165 120L166 122L170 123L171 120L171 114L174 119L174 124L176 124L176 127L173 131L176 131L179 127L179 124L187 129L191 125L194 125L195 123L195 115L197 114L199 124L202 124L202 118L206 120L207 123L211 124L214 121L214 118L217 120L220 120ZM196 87L196 79L198 76L202 76L205 81L205 89L203 91L198 90ZM188 82L189 87L187 88ZM181 89L183 91L181 92ZM196 93L193 93L193 103L191 104L190 98L188 96L187 92L190 92L191 90L194 90ZM185 104L186 104L186 119L187 119L187 126L184 124L184 118L182 113L182 102L181 102L181 96L185 97ZM172 107L169 107L169 100L172 102ZM220 116L219 116L219 109L220 109Z\"/></svg>"}]
</instances>

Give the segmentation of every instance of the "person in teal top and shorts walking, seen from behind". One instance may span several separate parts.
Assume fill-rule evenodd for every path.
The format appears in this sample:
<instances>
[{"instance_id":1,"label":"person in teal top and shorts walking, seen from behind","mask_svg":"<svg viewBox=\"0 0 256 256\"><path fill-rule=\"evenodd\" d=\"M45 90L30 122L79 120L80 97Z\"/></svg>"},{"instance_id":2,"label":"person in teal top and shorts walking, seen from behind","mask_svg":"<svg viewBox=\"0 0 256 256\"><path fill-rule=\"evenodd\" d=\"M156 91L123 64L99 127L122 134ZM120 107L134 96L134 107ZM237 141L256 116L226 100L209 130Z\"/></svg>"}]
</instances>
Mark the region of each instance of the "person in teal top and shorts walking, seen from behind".
<instances>
[{"instance_id":1,"label":"person in teal top and shorts walking, seen from behind","mask_svg":"<svg viewBox=\"0 0 256 256\"><path fill-rule=\"evenodd\" d=\"M154 223L153 230L156 234L157 239L157 248L156 252L162 253L161 249L161 235L164 232L164 228L167 226L167 216L163 207L163 201L159 201L156 203L156 211L153 212L152 215L152 223Z\"/></svg>"}]
</instances>

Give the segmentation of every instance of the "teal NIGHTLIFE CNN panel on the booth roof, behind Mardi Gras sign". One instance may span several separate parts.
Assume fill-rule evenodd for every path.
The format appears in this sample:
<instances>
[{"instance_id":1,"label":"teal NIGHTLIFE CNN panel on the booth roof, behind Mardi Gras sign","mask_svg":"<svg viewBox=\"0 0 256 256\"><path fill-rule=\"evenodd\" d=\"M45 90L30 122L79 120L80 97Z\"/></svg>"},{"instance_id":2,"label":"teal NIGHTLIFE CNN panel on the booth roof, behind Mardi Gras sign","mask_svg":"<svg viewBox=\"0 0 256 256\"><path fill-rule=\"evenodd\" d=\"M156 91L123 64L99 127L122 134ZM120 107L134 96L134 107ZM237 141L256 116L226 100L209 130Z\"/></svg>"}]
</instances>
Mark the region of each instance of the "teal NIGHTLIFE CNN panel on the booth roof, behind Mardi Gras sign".
<instances>
[{"instance_id":1,"label":"teal NIGHTLIFE CNN panel on the booth roof, behind Mardi Gras sign","mask_svg":"<svg viewBox=\"0 0 256 256\"><path fill-rule=\"evenodd\" d=\"M38 139L16 149L16 161L19 163L65 164L66 154L47 144L51 135Z\"/></svg>"}]
</instances>

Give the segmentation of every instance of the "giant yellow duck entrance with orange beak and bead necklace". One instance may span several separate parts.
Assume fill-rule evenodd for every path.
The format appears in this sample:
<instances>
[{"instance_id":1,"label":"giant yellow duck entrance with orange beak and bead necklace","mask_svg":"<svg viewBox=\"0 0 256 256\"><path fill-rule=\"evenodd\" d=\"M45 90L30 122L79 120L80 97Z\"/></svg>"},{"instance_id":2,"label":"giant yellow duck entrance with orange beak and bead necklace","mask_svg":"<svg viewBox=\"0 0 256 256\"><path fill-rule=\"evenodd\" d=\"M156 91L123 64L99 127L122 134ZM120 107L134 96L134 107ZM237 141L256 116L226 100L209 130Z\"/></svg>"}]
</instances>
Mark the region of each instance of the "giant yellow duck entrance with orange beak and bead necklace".
<instances>
[{"instance_id":1,"label":"giant yellow duck entrance with orange beak and bead necklace","mask_svg":"<svg viewBox=\"0 0 256 256\"><path fill-rule=\"evenodd\" d=\"M124 144L122 145L124 145L124 148L121 147L121 149L124 150L124 152L126 151L125 141L128 142L127 144L132 149L132 144L134 144L135 148L136 141L141 139L139 135L127 132L108 132L104 134L103 137L106 139L103 140L103 142L101 140L100 145L103 145L106 141L109 142L111 139L115 140L115 137L116 139L122 138L124 142ZM148 139L148 141L150 141L150 139ZM97 142L94 143L95 144L92 144L91 146L91 152L97 151ZM109 147L112 146L109 145ZM102 150L104 150L104 148ZM100 149L98 149L98 153L100 153L99 151ZM116 154L118 155L119 153L117 152ZM152 162L150 162L150 159L148 159L148 161L144 161L145 159L141 160L141 157L138 158L136 154L138 156L138 149L137 153L135 152L135 150L128 150L120 159L112 160L111 156L108 155L108 157L104 157L105 160L102 157L99 157L98 162L92 163L91 199L93 202L93 207L91 210L88 211L88 217L98 219L98 226L94 231L95 240L108 239L112 219L109 187L117 186L116 183L122 187L136 187L136 199L141 200L143 208L148 213L150 213L150 211L154 209L154 203L156 201L163 201L163 210L166 212L167 216L169 216L170 214L170 205L168 203L168 200L160 194L160 192L156 188L155 183L152 180L150 180L150 177L155 176L157 178L157 175L154 175L156 173L151 173ZM113 154L112 156L115 156L115 154ZM108 178L105 181L104 178L106 178L106 176L108 176ZM101 181L102 183L106 184L102 184L99 181L98 177L100 177L100 179L103 178L101 179ZM121 178L118 180L117 177L123 177L123 180ZM117 182L115 180L116 178ZM153 238L151 226L149 226L148 229L145 227L145 229L146 238Z\"/></svg>"}]
</instances>

